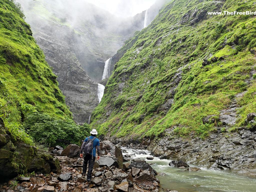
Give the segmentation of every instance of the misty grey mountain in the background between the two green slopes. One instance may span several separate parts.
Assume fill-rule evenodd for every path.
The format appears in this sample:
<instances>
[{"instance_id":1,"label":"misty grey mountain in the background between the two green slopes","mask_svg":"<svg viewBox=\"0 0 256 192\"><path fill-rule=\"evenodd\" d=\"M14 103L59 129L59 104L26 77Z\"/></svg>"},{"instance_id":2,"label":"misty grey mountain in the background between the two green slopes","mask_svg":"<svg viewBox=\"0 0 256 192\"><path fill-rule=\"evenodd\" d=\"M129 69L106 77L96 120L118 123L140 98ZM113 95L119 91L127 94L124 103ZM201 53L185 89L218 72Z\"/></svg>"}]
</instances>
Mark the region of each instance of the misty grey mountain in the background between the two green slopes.
<instances>
[{"instance_id":1,"label":"misty grey mountain in the background between the two green slopes","mask_svg":"<svg viewBox=\"0 0 256 192\"><path fill-rule=\"evenodd\" d=\"M33 37L58 76L74 121L88 122L99 103L98 84L93 81L101 80L104 62L134 31L143 28L145 13L121 20L85 1L18 2Z\"/></svg>"}]
</instances>

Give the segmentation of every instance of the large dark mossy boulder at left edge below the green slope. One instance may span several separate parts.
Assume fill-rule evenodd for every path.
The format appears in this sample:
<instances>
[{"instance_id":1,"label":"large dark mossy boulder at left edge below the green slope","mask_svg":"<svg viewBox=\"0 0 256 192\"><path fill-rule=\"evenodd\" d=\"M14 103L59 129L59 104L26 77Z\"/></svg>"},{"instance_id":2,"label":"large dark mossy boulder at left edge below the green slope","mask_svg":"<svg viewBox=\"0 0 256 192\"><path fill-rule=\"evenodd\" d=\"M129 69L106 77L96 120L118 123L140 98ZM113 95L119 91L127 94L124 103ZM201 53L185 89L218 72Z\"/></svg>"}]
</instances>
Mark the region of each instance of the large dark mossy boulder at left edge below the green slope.
<instances>
[{"instance_id":1,"label":"large dark mossy boulder at left edge below the green slope","mask_svg":"<svg viewBox=\"0 0 256 192\"><path fill-rule=\"evenodd\" d=\"M1 126L1 122L0 122ZM28 172L50 173L60 170L59 162L51 156L51 153L39 151L36 147L27 145L19 140L15 141L7 135L2 135L3 146L0 147L0 180L5 181L17 176L18 170L12 166L13 157L15 163L22 164ZM3 138L4 141L3 141Z\"/></svg>"}]
</instances>

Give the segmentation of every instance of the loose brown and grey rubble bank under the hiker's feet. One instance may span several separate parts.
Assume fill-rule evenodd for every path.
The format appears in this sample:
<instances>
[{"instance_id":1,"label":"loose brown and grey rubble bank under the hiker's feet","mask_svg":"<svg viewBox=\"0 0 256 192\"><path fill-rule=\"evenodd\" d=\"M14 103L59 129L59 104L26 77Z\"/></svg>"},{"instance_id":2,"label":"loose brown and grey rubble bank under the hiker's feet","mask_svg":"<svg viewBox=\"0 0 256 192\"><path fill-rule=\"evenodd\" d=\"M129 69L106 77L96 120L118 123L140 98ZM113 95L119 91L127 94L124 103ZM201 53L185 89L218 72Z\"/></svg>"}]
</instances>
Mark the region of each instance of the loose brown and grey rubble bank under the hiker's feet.
<instances>
[{"instance_id":1,"label":"loose brown and grey rubble bank under the hiker's feet","mask_svg":"<svg viewBox=\"0 0 256 192\"><path fill-rule=\"evenodd\" d=\"M65 150L65 149L64 149ZM111 150L111 149L110 149ZM116 150L116 149L115 149ZM120 149L121 150L121 149ZM117 150L116 150L117 151ZM107 154L111 151L106 150ZM113 152L113 151L112 151ZM119 150L118 150L119 152ZM82 176L81 158L69 158L66 156L55 156L61 167L61 173L39 174L23 179L15 187L10 184L4 183L0 185L0 191L8 192L107 192L107 191L158 191L159 180L153 175L152 167L145 162L145 160L133 161L131 164L127 163L124 167L120 167L117 163L117 158L113 156L103 155L100 160L114 161L114 163L107 166L101 164L100 161L95 164L96 166L92 172L92 179L90 183L86 182L87 176ZM130 166L131 165L131 166ZM141 166L143 169L136 168Z\"/></svg>"}]
</instances>

